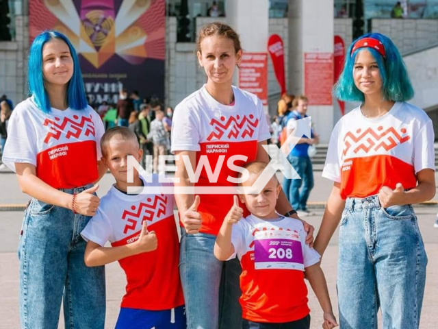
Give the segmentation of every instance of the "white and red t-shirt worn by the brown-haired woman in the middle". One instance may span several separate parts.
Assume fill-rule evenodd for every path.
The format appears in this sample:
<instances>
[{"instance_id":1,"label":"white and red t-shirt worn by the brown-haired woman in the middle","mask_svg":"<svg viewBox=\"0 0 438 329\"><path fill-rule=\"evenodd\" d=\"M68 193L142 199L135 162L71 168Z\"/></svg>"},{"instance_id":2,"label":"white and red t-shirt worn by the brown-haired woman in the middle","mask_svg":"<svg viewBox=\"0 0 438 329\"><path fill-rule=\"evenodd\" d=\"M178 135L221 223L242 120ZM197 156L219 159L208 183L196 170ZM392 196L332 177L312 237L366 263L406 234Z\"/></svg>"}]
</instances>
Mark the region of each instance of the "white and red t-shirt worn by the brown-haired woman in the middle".
<instances>
[{"instance_id":1,"label":"white and red t-shirt worn by the brown-haired woman in the middle","mask_svg":"<svg viewBox=\"0 0 438 329\"><path fill-rule=\"evenodd\" d=\"M237 167L254 161L258 143L270 138L266 114L257 96L233 86L234 103L226 106L211 97L205 86L185 98L175 108L172 119L172 152L196 151L196 166L201 156L207 156L212 172L223 158L217 182L209 182L205 167L195 186L235 186L227 180L236 178L229 169L231 156L246 156L235 160ZM195 169L193 169L195 170ZM233 195L201 195L198 212L203 224L201 232L218 234L222 221L233 205ZM246 212L246 215L249 215Z\"/></svg>"}]
</instances>

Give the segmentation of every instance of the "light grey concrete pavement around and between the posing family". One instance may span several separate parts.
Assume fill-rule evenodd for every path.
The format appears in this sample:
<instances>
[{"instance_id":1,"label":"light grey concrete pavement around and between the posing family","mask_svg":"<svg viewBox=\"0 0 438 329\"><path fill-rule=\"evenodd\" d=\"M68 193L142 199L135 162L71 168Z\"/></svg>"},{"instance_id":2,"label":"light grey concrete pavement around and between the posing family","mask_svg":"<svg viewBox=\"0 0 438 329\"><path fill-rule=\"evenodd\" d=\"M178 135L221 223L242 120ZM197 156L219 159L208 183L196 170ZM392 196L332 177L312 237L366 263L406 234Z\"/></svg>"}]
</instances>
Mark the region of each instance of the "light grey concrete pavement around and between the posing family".
<instances>
[{"instance_id":1,"label":"light grey concrete pavement around and between the posing family","mask_svg":"<svg viewBox=\"0 0 438 329\"><path fill-rule=\"evenodd\" d=\"M309 201L313 203L314 215L306 218L318 230L323 209L320 208L331 191L331 182L320 177L320 171L315 172L315 188ZM437 180L438 181L438 180ZM100 182L99 195L105 194L112 184L112 177L105 175ZM12 173L0 173L0 206L5 204L25 204L29 197L23 195L18 188L16 177ZM428 254L428 270L426 293L422 310L420 328L437 328L438 309L438 229L433 228L436 206L415 207L419 218L420 230L423 234L426 252ZM18 319L18 258L16 247L21 228L23 212L0 211L0 329L19 328ZM322 267L329 284L332 303L337 315L336 275L338 234L333 239L324 254ZM117 263L107 265L107 321L105 328L114 328L118 316L121 297L125 289L125 276ZM322 312L315 295L309 289L309 306L312 310L311 328L321 328ZM380 324L381 326L381 324ZM60 327L64 328L62 319ZM379 327L381 328L381 327Z\"/></svg>"}]
</instances>

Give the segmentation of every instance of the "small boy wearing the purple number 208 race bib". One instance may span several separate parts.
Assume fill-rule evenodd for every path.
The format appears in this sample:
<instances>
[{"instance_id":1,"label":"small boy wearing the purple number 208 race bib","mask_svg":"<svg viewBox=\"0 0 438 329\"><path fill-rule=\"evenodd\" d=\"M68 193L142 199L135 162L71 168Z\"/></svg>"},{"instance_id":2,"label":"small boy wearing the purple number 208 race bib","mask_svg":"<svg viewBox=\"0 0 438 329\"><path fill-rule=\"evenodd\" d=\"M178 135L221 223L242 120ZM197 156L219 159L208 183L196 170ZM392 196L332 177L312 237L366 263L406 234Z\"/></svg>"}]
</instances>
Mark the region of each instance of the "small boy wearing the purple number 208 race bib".
<instances>
[{"instance_id":1,"label":"small boy wearing the purple number 208 race bib","mask_svg":"<svg viewBox=\"0 0 438 329\"><path fill-rule=\"evenodd\" d=\"M246 164L249 178L242 186L253 186L267 166L259 161ZM239 199L234 196L214 254L219 260L237 256L242 265L243 328L271 328L270 324L272 328L278 328L278 324L282 324L281 328L309 328L305 275L324 310L323 328L334 328L337 323L320 268L320 255L306 245L301 221L275 211L280 190L274 175L258 195L239 195L240 202L251 212L244 219Z\"/></svg>"}]
</instances>

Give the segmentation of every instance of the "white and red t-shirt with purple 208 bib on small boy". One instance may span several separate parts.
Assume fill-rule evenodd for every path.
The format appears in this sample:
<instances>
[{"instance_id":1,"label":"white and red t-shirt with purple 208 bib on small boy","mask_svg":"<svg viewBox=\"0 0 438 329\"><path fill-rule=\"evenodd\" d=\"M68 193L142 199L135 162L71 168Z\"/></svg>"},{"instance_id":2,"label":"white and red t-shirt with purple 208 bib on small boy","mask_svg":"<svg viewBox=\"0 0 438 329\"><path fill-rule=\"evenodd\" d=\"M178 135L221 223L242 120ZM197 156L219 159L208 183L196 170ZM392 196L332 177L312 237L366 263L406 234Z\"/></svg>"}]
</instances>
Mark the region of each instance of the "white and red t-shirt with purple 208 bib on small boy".
<instances>
[{"instance_id":1,"label":"white and red t-shirt with purple 208 bib on small boy","mask_svg":"<svg viewBox=\"0 0 438 329\"><path fill-rule=\"evenodd\" d=\"M280 215L279 215L280 216ZM304 269L320 261L305 242L301 221L254 215L233 225L231 243L242 264L242 317L256 322L296 321L309 313Z\"/></svg>"}]
</instances>

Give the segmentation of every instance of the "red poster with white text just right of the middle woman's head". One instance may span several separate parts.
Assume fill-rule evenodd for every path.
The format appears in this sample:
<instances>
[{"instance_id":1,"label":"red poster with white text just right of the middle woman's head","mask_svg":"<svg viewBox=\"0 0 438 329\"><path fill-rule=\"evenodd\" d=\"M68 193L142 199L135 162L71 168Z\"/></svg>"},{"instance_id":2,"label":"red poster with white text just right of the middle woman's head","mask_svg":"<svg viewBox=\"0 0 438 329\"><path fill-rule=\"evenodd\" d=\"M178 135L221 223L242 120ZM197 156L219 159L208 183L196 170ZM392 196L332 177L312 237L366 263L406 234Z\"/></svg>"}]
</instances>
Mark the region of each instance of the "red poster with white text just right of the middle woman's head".
<instances>
[{"instance_id":1,"label":"red poster with white text just right of the middle woman's head","mask_svg":"<svg viewBox=\"0 0 438 329\"><path fill-rule=\"evenodd\" d=\"M268 105L268 54L244 53L239 69L239 87L257 95Z\"/></svg>"}]
</instances>

